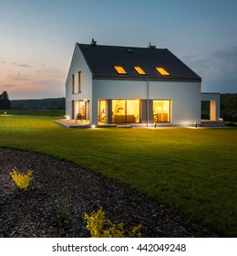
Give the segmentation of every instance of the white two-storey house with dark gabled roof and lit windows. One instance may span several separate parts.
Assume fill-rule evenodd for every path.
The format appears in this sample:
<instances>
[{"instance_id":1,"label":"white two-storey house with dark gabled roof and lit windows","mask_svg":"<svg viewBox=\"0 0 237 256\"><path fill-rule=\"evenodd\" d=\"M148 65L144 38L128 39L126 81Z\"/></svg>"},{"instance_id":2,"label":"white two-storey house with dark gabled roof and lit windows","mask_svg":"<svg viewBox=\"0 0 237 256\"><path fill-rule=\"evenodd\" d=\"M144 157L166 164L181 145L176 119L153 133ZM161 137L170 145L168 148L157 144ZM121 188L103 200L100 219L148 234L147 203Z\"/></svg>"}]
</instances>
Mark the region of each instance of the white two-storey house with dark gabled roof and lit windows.
<instances>
[{"instance_id":1,"label":"white two-storey house with dark gabled roof and lit windows","mask_svg":"<svg viewBox=\"0 0 237 256\"><path fill-rule=\"evenodd\" d=\"M219 119L220 101L211 101ZM201 77L167 48L76 44L66 82L67 120L200 125Z\"/></svg>"}]
</instances>

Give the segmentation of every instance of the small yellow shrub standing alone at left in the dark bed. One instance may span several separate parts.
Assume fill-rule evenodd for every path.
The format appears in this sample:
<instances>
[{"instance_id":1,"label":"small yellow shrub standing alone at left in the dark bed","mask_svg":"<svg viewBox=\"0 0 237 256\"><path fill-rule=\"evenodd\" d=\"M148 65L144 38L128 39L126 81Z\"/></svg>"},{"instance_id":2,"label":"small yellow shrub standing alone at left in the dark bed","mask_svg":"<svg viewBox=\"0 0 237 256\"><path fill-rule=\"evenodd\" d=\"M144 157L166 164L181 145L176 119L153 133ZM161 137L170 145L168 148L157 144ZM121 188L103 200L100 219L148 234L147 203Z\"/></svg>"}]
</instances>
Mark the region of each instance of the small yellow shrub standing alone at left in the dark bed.
<instances>
[{"instance_id":1,"label":"small yellow shrub standing alone at left in the dark bed","mask_svg":"<svg viewBox=\"0 0 237 256\"><path fill-rule=\"evenodd\" d=\"M25 174L23 172L19 172L16 167L13 168L13 172L10 172L10 176L15 181L15 185L20 189L27 190L30 181L33 179L33 170L28 170Z\"/></svg>"}]
</instances>

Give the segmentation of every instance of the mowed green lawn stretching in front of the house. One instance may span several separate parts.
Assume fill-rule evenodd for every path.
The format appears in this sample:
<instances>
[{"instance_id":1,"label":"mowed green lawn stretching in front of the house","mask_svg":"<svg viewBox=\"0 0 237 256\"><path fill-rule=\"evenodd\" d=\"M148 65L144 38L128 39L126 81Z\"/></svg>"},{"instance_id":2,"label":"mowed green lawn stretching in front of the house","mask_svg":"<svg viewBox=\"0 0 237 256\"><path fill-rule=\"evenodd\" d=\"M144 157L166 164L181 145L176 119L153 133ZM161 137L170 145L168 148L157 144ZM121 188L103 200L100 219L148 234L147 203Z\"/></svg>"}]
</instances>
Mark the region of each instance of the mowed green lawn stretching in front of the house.
<instances>
[{"instance_id":1,"label":"mowed green lawn stretching in front of the house","mask_svg":"<svg viewBox=\"0 0 237 256\"><path fill-rule=\"evenodd\" d=\"M237 129L66 129L52 117L0 115L0 146L72 161L237 236Z\"/></svg>"}]
</instances>

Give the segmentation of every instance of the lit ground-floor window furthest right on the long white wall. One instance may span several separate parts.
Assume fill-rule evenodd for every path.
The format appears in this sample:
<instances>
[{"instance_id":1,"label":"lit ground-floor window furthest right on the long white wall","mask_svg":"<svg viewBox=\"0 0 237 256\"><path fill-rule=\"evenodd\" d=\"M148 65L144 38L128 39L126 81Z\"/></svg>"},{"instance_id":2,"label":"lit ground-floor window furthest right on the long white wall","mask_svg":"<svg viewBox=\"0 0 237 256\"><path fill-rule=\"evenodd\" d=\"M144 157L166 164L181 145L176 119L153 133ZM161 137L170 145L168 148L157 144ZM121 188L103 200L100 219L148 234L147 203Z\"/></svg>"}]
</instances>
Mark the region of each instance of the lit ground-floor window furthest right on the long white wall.
<instances>
[{"instance_id":1,"label":"lit ground-floor window furthest right on the long white wall","mask_svg":"<svg viewBox=\"0 0 237 256\"><path fill-rule=\"evenodd\" d=\"M153 122L170 122L170 101L153 101Z\"/></svg>"}]
</instances>

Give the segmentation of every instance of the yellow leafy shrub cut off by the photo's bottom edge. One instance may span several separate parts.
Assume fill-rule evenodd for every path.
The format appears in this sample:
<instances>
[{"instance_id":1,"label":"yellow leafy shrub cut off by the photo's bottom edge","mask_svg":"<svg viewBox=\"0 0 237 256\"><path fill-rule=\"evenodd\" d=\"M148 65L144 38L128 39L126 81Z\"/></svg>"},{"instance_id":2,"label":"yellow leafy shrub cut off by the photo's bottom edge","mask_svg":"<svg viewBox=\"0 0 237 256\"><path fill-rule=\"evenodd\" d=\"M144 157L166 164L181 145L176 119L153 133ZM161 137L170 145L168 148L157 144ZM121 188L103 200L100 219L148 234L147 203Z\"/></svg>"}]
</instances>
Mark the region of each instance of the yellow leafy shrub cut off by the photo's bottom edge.
<instances>
[{"instance_id":1,"label":"yellow leafy shrub cut off by the photo's bottom edge","mask_svg":"<svg viewBox=\"0 0 237 256\"><path fill-rule=\"evenodd\" d=\"M87 229L90 231L92 238L125 238L125 237L141 237L140 229L141 225L134 227L133 229L125 229L124 223L112 223L109 219L105 218L105 212L103 208L99 208L98 211L93 211L90 215L84 213L85 219L87 219ZM105 229L105 227L108 227Z\"/></svg>"}]
</instances>

